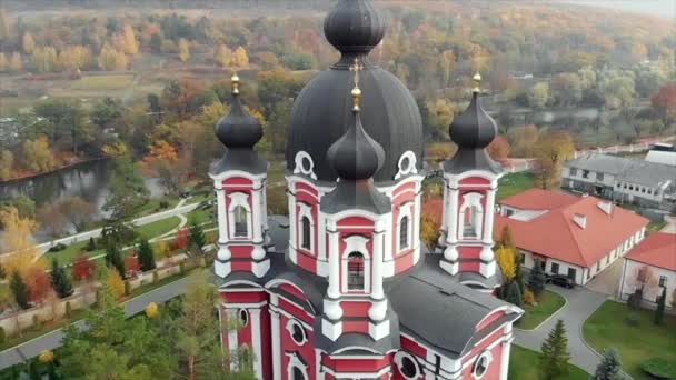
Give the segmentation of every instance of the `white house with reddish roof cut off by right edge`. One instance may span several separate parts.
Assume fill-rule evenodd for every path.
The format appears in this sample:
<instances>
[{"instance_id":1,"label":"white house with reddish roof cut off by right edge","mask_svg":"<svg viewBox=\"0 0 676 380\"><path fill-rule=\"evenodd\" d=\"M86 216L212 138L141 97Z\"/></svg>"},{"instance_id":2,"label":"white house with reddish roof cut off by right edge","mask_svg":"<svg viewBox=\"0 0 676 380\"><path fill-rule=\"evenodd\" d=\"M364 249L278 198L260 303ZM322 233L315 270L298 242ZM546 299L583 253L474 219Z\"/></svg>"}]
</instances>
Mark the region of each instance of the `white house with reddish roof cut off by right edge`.
<instances>
[{"instance_id":1,"label":"white house with reddish roof cut off by right edge","mask_svg":"<svg viewBox=\"0 0 676 380\"><path fill-rule=\"evenodd\" d=\"M642 283L637 281L639 271L649 268L645 274L643 300L655 304L662 287L667 288L667 307L676 289L676 234L654 232L645 238L625 257L618 296L627 300Z\"/></svg>"}]
</instances>

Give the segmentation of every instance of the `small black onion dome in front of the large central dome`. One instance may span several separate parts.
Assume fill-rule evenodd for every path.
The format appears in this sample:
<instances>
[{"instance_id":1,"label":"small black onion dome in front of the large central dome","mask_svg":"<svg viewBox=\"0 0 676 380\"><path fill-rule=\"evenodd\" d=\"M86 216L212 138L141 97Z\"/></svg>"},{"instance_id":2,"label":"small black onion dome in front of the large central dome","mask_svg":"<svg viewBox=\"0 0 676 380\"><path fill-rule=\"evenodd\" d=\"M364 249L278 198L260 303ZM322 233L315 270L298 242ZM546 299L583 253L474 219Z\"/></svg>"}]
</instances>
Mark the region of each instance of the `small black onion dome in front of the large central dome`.
<instances>
[{"instance_id":1,"label":"small black onion dome in front of the large central dome","mask_svg":"<svg viewBox=\"0 0 676 380\"><path fill-rule=\"evenodd\" d=\"M385 161L385 151L378 141L364 130L359 111L354 112L354 123L329 148L327 158L338 177L347 180L365 180L380 170Z\"/></svg>"}]
</instances>

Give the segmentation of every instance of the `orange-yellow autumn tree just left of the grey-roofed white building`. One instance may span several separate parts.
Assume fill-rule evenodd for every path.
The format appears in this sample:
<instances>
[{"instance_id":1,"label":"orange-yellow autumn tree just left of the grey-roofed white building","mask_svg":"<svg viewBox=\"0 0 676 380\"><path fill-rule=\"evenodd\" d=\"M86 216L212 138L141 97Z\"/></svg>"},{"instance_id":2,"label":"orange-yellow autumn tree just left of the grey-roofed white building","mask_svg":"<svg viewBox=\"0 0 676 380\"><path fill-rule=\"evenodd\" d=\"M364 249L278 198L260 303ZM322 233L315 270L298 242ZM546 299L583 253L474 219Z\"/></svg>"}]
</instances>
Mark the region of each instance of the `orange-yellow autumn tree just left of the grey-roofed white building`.
<instances>
[{"instance_id":1,"label":"orange-yellow autumn tree just left of the grey-roofed white building","mask_svg":"<svg viewBox=\"0 0 676 380\"><path fill-rule=\"evenodd\" d=\"M574 153L575 142L568 132L553 131L538 139L535 147L536 176L543 189L559 186L563 164Z\"/></svg>"}]
</instances>

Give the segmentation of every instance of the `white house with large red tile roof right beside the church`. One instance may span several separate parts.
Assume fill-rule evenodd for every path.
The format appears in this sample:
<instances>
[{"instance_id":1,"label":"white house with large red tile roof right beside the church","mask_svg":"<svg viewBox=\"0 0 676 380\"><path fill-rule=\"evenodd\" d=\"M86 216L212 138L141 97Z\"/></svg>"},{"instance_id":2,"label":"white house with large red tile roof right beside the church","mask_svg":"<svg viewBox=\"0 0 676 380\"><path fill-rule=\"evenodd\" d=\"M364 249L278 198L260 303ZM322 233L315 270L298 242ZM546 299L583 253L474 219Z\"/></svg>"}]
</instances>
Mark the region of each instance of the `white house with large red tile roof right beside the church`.
<instances>
[{"instance_id":1,"label":"white house with large red tile roof right beside the church","mask_svg":"<svg viewBox=\"0 0 676 380\"><path fill-rule=\"evenodd\" d=\"M499 202L494 233L511 230L521 264L584 286L626 254L648 220L592 196L530 189Z\"/></svg>"}]
</instances>

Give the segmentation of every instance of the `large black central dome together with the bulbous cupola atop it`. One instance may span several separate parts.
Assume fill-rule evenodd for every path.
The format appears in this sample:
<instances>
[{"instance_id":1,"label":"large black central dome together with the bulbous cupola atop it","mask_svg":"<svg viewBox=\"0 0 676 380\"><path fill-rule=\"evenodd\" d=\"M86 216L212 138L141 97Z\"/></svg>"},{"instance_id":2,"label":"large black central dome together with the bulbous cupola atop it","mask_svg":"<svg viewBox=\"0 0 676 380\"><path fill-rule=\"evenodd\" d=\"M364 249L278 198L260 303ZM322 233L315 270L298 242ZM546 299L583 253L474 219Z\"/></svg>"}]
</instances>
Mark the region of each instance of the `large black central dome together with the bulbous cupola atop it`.
<instances>
[{"instance_id":1,"label":"large black central dome together with the bulbous cupola atop it","mask_svg":"<svg viewBox=\"0 0 676 380\"><path fill-rule=\"evenodd\" d=\"M384 20L369 0L340 0L327 16L326 37L342 58L314 78L296 98L287 136L287 169L294 170L296 154L305 151L312 158L317 180L336 181L327 151L345 134L354 118L349 68L358 58L364 66L360 87L368 89L361 99L364 129L387 152L374 180L394 181L399 158L409 150L416 154L417 169L421 171L422 121L416 100L395 76L367 57L382 39Z\"/></svg>"}]
</instances>

